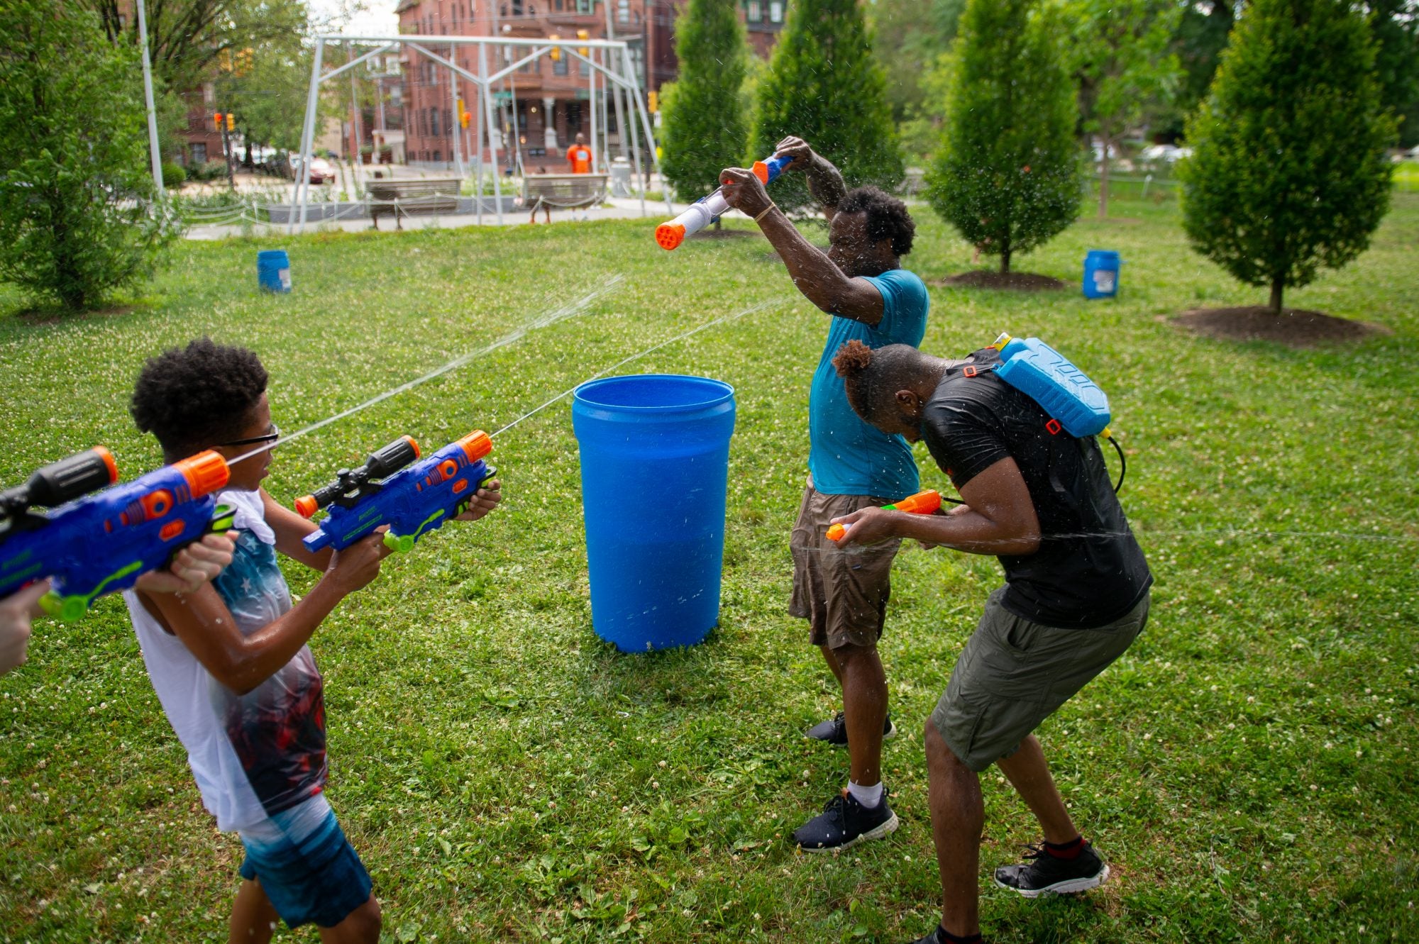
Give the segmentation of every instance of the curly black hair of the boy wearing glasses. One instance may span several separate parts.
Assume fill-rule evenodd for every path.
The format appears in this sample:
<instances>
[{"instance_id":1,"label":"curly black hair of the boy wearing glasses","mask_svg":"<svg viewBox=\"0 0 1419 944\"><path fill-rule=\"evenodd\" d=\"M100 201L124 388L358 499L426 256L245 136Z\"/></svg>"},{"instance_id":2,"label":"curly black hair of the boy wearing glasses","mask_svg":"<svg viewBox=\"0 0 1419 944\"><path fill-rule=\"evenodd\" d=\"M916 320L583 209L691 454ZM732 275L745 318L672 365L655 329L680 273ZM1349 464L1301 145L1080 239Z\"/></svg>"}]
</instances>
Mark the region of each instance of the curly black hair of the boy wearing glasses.
<instances>
[{"instance_id":1,"label":"curly black hair of the boy wearing glasses","mask_svg":"<svg viewBox=\"0 0 1419 944\"><path fill-rule=\"evenodd\" d=\"M265 387L267 371L254 353L199 337L143 364L131 411L139 429L179 458L240 439Z\"/></svg>"}]
</instances>

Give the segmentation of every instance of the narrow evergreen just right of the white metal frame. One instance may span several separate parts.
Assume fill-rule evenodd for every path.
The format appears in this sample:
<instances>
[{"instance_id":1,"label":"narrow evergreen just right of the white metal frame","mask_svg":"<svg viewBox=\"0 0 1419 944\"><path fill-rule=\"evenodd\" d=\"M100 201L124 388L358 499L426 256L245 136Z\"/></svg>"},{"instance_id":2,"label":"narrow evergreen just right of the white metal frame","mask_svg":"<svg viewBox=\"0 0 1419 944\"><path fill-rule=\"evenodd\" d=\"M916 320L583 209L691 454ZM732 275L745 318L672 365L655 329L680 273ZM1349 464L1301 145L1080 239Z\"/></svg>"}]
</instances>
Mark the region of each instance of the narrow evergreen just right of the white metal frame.
<instances>
[{"instance_id":1,"label":"narrow evergreen just right of the white metal frame","mask_svg":"<svg viewBox=\"0 0 1419 944\"><path fill-rule=\"evenodd\" d=\"M744 159L748 45L735 0L690 0L675 34L680 78L661 109L660 166L681 200L698 200Z\"/></svg>"}]
</instances>

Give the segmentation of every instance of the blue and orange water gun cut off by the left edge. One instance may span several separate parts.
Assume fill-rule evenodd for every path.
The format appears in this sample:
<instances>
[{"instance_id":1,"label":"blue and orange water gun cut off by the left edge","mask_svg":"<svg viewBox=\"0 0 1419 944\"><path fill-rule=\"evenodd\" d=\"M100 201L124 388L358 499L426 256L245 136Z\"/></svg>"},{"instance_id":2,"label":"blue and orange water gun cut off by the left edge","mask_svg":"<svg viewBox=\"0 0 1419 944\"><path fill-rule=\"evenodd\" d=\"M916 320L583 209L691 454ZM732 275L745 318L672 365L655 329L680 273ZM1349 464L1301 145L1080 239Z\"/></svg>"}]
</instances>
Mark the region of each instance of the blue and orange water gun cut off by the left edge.
<instances>
[{"instance_id":1,"label":"blue and orange water gun cut off by the left edge","mask_svg":"<svg viewBox=\"0 0 1419 944\"><path fill-rule=\"evenodd\" d=\"M230 475L227 461L209 449L88 496L118 481L108 449L44 466L0 492L0 597L53 577L40 605L78 619L94 600L128 590L203 534L228 530L231 509L210 496ZM34 505L53 510L33 512Z\"/></svg>"}]
</instances>

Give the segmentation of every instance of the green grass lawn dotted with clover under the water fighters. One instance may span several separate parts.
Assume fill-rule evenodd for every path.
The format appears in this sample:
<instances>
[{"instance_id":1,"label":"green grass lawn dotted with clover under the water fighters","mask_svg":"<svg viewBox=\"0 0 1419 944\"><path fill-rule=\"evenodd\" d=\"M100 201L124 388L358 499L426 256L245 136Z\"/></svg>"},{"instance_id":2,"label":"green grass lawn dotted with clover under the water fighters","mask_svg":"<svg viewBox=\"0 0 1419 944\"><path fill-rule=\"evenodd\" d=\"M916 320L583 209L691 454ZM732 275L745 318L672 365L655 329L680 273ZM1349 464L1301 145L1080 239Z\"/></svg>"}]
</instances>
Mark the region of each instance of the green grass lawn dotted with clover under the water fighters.
<instances>
[{"instance_id":1,"label":"green grass lawn dotted with clover under the water fighters","mask_svg":"<svg viewBox=\"0 0 1419 944\"><path fill-rule=\"evenodd\" d=\"M925 350L1037 335L1108 391L1124 506L1156 575L1144 636L1040 730L1115 877L1036 903L990 887L988 940L1412 941L1419 196L1396 194L1358 262L1286 299L1392 333L1311 350L1179 332L1168 315L1264 292L1193 255L1175 204L1111 211L1086 206L1019 268L1077 285L1086 249L1118 249L1115 300L932 288ZM895 944L937 920L921 727L999 566L898 557L883 656L902 737L884 768L902 828L797 855L786 836L846 782L844 754L802 738L837 697L785 615L826 316L761 238L667 254L653 223L183 244L131 306L64 322L0 292L0 482L14 483L95 442L125 478L155 468L129 388L145 357L193 336L255 349L289 431L624 276L583 315L291 444L268 481L281 500L400 434L431 446L497 429L780 299L622 369L738 391L722 617L704 645L626 656L593 635L568 401L497 441L502 509L390 558L314 636L329 798L389 940ZM911 268L966 268L969 247L925 208L918 225ZM289 296L255 291L271 247L291 252ZM918 456L924 486L948 488ZM288 575L297 592L314 578ZM30 652L0 680L0 940L226 940L241 848L201 809L121 601L38 625ZM1039 838L995 772L985 794L983 887Z\"/></svg>"}]
</instances>

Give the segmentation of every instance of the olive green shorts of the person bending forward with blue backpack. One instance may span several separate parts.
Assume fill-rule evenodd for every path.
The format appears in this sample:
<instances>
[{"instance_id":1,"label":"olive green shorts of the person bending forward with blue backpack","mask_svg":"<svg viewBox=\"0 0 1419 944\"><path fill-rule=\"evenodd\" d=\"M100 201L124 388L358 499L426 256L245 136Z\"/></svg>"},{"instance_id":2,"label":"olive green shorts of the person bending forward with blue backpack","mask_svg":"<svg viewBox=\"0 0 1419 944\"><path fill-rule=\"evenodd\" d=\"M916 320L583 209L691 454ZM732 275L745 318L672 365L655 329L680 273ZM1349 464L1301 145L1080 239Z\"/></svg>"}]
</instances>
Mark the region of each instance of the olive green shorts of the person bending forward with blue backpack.
<instances>
[{"instance_id":1,"label":"olive green shorts of the person bending forward with blue backpack","mask_svg":"<svg viewBox=\"0 0 1419 944\"><path fill-rule=\"evenodd\" d=\"M931 723L962 764L981 772L1020 747L1040 721L1121 656L1148 624L1148 598L1095 629L1061 629L1006 609L990 594Z\"/></svg>"}]
</instances>

